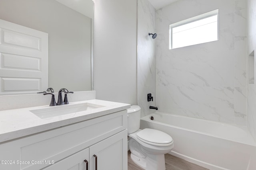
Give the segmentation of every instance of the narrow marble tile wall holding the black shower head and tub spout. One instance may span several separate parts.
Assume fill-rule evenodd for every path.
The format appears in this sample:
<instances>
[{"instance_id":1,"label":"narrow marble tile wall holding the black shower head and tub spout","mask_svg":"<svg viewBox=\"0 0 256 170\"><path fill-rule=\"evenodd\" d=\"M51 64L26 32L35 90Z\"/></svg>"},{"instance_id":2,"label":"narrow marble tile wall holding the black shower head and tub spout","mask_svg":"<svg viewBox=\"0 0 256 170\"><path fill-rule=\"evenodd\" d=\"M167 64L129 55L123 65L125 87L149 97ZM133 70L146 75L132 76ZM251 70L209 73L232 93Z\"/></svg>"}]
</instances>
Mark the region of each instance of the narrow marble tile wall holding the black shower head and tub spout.
<instances>
[{"instance_id":1,"label":"narrow marble tile wall holding the black shower head and tub spout","mask_svg":"<svg viewBox=\"0 0 256 170\"><path fill-rule=\"evenodd\" d=\"M156 10L148 0L138 0L138 45L137 45L137 78L138 105L141 107L141 117L154 112L149 106L156 106ZM153 102L147 101L151 93Z\"/></svg>"}]
</instances>

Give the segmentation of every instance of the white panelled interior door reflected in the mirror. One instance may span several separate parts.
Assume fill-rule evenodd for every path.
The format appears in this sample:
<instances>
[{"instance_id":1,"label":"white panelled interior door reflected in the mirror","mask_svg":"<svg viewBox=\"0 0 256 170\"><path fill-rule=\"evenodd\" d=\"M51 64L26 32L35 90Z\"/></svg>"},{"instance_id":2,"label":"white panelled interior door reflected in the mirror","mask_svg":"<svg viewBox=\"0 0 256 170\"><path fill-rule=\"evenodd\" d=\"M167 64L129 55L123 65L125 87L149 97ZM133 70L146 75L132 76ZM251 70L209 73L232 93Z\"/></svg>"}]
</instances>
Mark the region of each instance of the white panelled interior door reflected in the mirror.
<instances>
[{"instance_id":1,"label":"white panelled interior door reflected in the mirror","mask_svg":"<svg viewBox=\"0 0 256 170\"><path fill-rule=\"evenodd\" d=\"M0 20L0 95L48 88L48 33Z\"/></svg>"}]
</instances>

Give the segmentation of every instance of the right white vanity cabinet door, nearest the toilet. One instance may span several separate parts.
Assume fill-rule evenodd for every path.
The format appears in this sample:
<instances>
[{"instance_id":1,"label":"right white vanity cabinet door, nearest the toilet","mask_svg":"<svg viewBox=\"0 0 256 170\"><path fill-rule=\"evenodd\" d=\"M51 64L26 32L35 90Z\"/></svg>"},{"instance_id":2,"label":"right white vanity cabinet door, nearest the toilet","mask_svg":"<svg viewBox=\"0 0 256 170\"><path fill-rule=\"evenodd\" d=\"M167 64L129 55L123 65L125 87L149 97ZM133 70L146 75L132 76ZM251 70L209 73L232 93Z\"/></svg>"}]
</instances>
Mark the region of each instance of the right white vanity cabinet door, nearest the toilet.
<instances>
[{"instance_id":1,"label":"right white vanity cabinet door, nearest the toilet","mask_svg":"<svg viewBox=\"0 0 256 170\"><path fill-rule=\"evenodd\" d=\"M90 170L127 170L127 130L90 148Z\"/></svg>"}]
</instances>

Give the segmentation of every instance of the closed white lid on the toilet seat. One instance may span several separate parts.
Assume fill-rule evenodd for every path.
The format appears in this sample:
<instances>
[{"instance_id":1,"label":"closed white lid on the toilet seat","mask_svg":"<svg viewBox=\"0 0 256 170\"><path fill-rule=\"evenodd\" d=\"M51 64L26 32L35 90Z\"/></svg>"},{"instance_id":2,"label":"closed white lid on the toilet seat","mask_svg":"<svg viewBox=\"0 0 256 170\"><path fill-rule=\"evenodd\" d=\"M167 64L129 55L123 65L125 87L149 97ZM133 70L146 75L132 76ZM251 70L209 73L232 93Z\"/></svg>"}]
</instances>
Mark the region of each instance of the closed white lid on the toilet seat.
<instances>
[{"instance_id":1,"label":"closed white lid on the toilet seat","mask_svg":"<svg viewBox=\"0 0 256 170\"><path fill-rule=\"evenodd\" d=\"M172 142L172 137L167 133L158 131L156 129L143 129L137 133L138 139L141 141L148 141L156 144L168 144Z\"/></svg>"}]
</instances>

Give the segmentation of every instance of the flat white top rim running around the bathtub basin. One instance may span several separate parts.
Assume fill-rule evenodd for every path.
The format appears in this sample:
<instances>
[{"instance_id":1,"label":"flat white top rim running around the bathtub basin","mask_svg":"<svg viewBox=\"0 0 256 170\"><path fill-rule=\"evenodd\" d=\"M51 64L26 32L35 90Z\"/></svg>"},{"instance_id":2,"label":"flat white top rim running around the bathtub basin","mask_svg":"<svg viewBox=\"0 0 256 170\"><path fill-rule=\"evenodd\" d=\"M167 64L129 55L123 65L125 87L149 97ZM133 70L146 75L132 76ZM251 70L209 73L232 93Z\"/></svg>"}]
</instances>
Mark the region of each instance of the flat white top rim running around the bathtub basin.
<instances>
[{"instance_id":1,"label":"flat white top rim running around the bathtub basin","mask_svg":"<svg viewBox=\"0 0 256 170\"><path fill-rule=\"evenodd\" d=\"M230 126L238 127L240 129L242 129L243 131L245 131L245 133L247 133L250 136L252 141L247 141L247 142L235 141L233 139L228 139L228 138L225 138L225 137L219 137L217 135L212 135L212 134L206 133L206 132L201 132L201 131L196 131L196 130L192 130L192 129L188 129L188 128L184 128L184 127L170 125L170 124L162 123L162 122L159 122L159 121L153 121L153 120L150 119L150 117L152 115L154 115L154 114L162 114L162 115L168 115L168 116L172 115L172 116L176 116L176 117L183 117L183 118L186 118L186 119L195 119L195 120L200 120L200 121L202 120L202 121L208 121L208 122L211 122L211 123L217 123L217 124L220 124L220 125L230 125ZM157 123L157 124L162 124L162 125L167 125L167 126L175 127L177 129L182 129L182 130L190 131L190 132L193 132L193 133L200 133L200 134L207 135L207 136L210 136L210 137L216 137L218 139L224 139L224 140L228 140L228 141L232 141L232 142L236 142L236 143L242 143L244 145L250 145L250 146L256 147L256 141L254 140L254 138L252 137L252 135L250 134L250 132L248 131L248 128L246 126L232 125L232 124L228 124L228 123L222 123L222 122L217 122L217 121L210 121L210 120L206 120L206 119L198 119L198 118L194 118L194 117L187 117L187 116L183 116L183 115L176 115L176 114L173 114L173 113L164 113L164 112L160 112L160 111L156 111L154 113L150 113L150 114L148 114L148 115L146 115L144 117L141 117L140 119L144 120L144 121L152 122L152 123Z\"/></svg>"}]
</instances>

